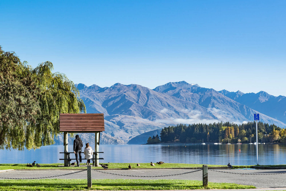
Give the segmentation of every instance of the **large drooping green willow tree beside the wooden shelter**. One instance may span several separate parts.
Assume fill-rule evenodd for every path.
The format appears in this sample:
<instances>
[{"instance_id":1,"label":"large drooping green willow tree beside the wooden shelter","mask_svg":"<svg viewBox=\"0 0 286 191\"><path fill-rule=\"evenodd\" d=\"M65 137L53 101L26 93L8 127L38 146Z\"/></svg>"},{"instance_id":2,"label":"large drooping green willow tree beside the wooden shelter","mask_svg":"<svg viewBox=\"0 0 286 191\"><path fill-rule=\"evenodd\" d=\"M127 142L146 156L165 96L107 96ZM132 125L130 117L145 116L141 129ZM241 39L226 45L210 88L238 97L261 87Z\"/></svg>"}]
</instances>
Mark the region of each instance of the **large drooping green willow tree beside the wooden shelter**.
<instances>
[{"instance_id":1,"label":"large drooping green willow tree beside the wooden shelter","mask_svg":"<svg viewBox=\"0 0 286 191\"><path fill-rule=\"evenodd\" d=\"M15 53L0 52L1 149L51 145L59 133L59 113L86 112L74 83L52 70L51 62L32 68Z\"/></svg>"}]
</instances>

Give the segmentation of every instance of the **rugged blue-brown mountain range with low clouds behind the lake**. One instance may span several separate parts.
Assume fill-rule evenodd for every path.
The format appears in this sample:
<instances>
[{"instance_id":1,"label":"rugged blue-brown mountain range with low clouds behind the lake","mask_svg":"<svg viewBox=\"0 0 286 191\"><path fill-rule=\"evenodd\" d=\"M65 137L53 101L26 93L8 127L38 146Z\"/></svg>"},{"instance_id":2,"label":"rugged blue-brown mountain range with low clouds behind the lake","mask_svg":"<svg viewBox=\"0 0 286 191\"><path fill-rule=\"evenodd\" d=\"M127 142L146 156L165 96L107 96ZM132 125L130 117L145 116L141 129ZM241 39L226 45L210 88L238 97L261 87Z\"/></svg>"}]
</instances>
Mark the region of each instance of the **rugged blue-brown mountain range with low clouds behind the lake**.
<instances>
[{"instance_id":1,"label":"rugged blue-brown mountain range with low clouds behind the lake","mask_svg":"<svg viewBox=\"0 0 286 191\"><path fill-rule=\"evenodd\" d=\"M285 97L274 97L266 92L216 91L185 81L169 82L153 90L120 83L104 88L95 84L76 84L76 87L87 113L104 113L102 139L107 141L107 136L112 136L114 141L101 144L127 143L142 133L178 123L245 123L253 121L254 113L260 113L265 123L279 127L285 127L286 123ZM88 140L89 135L84 136Z\"/></svg>"}]
</instances>

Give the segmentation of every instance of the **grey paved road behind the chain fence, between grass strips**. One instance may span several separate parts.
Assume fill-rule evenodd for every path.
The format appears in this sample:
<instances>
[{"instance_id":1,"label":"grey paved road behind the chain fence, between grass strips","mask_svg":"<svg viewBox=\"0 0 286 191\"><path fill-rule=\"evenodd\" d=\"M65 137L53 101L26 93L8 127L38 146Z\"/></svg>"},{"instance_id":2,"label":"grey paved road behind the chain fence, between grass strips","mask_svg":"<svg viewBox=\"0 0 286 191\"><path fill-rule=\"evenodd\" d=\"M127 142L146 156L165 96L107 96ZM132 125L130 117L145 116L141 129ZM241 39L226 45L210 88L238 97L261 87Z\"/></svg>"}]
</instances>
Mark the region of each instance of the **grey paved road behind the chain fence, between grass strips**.
<instances>
[{"instance_id":1,"label":"grey paved road behind the chain fence, between grass strips","mask_svg":"<svg viewBox=\"0 0 286 191\"><path fill-rule=\"evenodd\" d=\"M76 172L78 170L13 170L7 172L1 172L0 177L13 177L13 178L31 178L31 177L44 177L55 176L60 174L67 174ZM184 172L190 172L193 170L187 169L132 169L132 170L102 170L102 172L110 172L116 174L136 175L136 176L158 176L169 174L180 174ZM286 170L221 170L225 172L236 173L286 173ZM189 174L177 175L177 176L165 176L165 177L128 177L110 175L102 172L92 171L93 179L181 179L181 180L202 180L202 171L193 172ZM87 172L80 172L76 174L60 176L56 178L64 179L86 179ZM241 174L229 174L221 172L208 171L209 182L227 182L237 183L244 185L253 185L257 188L277 188L286 187L286 174L274 174L274 175L241 175Z\"/></svg>"}]
</instances>

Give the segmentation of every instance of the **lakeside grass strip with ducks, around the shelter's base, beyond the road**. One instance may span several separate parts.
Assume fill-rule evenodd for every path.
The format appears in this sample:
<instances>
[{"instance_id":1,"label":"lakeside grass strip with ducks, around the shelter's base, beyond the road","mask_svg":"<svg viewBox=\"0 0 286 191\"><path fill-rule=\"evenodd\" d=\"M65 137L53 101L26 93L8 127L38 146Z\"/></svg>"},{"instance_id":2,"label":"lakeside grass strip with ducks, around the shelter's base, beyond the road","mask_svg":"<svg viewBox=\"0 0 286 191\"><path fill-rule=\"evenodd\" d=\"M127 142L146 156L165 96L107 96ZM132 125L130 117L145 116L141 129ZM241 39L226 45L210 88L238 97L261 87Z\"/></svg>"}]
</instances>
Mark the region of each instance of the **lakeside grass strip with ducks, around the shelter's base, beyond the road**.
<instances>
[{"instance_id":1,"label":"lakeside grass strip with ducks, around the shelter's base, beyond the road","mask_svg":"<svg viewBox=\"0 0 286 191\"><path fill-rule=\"evenodd\" d=\"M81 163L84 165L84 163ZM140 166L136 166L137 163L108 163L108 168L128 168L129 164L132 168L190 168L190 167L202 167L202 164L180 164L180 163L165 163L165 164L155 164L155 166L151 166L150 163L140 163ZM58 165L63 165L62 163L53 163L53 164L40 164L41 167L27 167L27 164L0 164L0 170L7 169L78 169L78 167L57 167ZM209 167L215 166L227 166L227 165L208 165ZM86 168L86 167L80 167ZM100 168L102 167L92 167L92 168Z\"/></svg>"}]
</instances>

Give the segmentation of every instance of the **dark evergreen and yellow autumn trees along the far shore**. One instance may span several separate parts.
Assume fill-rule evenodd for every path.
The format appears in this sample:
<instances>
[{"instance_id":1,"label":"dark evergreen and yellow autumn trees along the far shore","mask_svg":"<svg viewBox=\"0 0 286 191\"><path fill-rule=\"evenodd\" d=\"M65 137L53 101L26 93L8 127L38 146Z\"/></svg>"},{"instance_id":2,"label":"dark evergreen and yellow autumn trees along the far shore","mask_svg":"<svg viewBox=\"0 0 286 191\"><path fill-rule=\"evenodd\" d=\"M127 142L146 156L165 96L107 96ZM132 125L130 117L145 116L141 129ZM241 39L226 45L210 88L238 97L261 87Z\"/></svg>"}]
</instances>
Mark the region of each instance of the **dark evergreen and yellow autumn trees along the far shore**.
<instances>
[{"instance_id":1,"label":"dark evergreen and yellow autumn trees along the far shore","mask_svg":"<svg viewBox=\"0 0 286 191\"><path fill-rule=\"evenodd\" d=\"M276 125L258 122L258 141L256 141L256 124L248 122L236 124L230 122L178 124L164 127L160 136L149 137L147 144L180 142L180 143L286 143L286 130Z\"/></svg>"}]
</instances>

